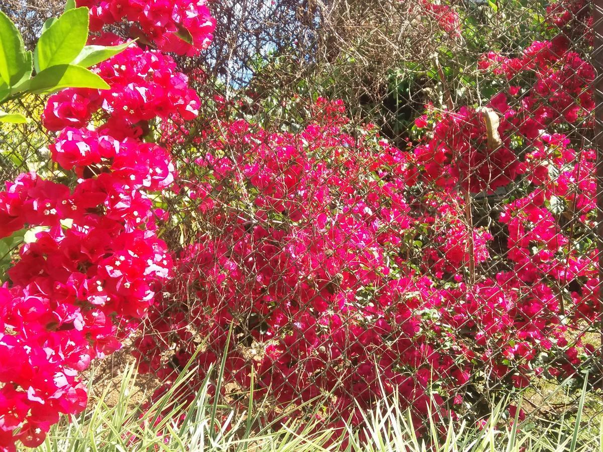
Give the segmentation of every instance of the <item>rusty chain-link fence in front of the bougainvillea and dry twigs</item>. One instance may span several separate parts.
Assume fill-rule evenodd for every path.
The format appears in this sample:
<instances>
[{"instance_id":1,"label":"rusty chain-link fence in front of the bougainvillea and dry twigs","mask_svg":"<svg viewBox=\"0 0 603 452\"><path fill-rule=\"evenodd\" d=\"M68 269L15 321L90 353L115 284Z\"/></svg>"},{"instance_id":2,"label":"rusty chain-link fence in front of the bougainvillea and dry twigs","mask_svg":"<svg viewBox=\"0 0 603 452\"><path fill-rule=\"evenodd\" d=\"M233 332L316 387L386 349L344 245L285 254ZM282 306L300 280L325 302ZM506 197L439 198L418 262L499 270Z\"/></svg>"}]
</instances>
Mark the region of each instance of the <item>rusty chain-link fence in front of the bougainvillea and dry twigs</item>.
<instances>
[{"instance_id":1,"label":"rusty chain-link fence in front of the bougainvillea and dry twigs","mask_svg":"<svg viewBox=\"0 0 603 452\"><path fill-rule=\"evenodd\" d=\"M145 125L178 171L153 200L175 277L106 371L152 393L194 357L192 393L223 363L229 404L335 427L396 395L417 425L504 402L544 430L586 388L598 428L603 2L211 9L177 59L198 118ZM2 178L60 177L46 99L18 102Z\"/></svg>"}]
</instances>

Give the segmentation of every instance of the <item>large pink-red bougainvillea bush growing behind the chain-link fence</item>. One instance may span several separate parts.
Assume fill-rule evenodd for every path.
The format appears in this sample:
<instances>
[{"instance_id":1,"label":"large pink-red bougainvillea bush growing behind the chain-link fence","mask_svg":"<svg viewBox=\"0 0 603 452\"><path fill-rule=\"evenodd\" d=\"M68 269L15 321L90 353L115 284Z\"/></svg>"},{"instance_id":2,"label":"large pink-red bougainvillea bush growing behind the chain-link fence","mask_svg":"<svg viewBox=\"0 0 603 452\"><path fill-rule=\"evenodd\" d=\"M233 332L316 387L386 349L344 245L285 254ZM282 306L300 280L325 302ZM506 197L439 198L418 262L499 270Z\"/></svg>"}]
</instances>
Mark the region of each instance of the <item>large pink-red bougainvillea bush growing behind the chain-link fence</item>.
<instances>
[{"instance_id":1,"label":"large pink-red bougainvillea bush growing behind the chain-link fence","mask_svg":"<svg viewBox=\"0 0 603 452\"><path fill-rule=\"evenodd\" d=\"M393 392L417 422L476 419L491 395L579 380L601 306L596 155L571 131L592 128L595 74L559 8L551 39L476 58L496 87L482 107L426 105L402 149L323 98L291 100L309 110L301 131L219 96L202 136L168 130L197 142L176 193L200 226L136 340L142 371L167 378L210 337L200 378L228 344L235 388L253 378L276 416L318 398L335 427Z\"/></svg>"}]
</instances>

